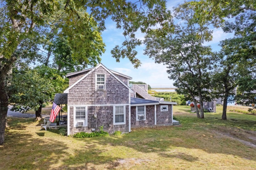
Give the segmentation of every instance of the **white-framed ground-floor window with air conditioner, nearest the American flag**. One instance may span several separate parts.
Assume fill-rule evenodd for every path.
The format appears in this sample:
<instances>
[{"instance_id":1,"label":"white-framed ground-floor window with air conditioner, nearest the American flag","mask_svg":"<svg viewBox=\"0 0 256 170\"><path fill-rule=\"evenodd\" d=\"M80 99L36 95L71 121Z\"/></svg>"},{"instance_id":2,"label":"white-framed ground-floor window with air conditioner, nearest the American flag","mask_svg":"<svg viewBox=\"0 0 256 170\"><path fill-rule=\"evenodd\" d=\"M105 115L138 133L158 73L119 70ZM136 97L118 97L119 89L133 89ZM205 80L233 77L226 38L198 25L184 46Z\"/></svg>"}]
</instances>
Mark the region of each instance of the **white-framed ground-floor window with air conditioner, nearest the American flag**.
<instances>
[{"instance_id":1,"label":"white-framed ground-floor window with air conditioner, nearest the American flag","mask_svg":"<svg viewBox=\"0 0 256 170\"><path fill-rule=\"evenodd\" d=\"M74 107L74 126L87 126L86 107Z\"/></svg>"}]
</instances>

